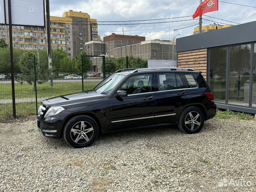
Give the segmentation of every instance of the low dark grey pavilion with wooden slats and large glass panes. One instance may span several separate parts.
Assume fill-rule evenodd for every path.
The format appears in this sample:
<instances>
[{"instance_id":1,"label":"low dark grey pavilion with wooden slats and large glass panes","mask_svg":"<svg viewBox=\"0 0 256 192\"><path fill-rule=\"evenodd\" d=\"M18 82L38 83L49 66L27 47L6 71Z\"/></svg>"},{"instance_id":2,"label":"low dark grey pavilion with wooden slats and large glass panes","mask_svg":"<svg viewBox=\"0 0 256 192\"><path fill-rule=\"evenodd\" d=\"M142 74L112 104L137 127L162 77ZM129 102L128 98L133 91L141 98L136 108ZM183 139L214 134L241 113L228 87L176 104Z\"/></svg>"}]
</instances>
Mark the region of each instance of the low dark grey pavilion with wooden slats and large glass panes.
<instances>
[{"instance_id":1,"label":"low dark grey pavilion with wooden slats and large glass panes","mask_svg":"<svg viewBox=\"0 0 256 192\"><path fill-rule=\"evenodd\" d=\"M256 114L256 21L177 39L178 67L202 71L218 108Z\"/></svg>"}]
</instances>

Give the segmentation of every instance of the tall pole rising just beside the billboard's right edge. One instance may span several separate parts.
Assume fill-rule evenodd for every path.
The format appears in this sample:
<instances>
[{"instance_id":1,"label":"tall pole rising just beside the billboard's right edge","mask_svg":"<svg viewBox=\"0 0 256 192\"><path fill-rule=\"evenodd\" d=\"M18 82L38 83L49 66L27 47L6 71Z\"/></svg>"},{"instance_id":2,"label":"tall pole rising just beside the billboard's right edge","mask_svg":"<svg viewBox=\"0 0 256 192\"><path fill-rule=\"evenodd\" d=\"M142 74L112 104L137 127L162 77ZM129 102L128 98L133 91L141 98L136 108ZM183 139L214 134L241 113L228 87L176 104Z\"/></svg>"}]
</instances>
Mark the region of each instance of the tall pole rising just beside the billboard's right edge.
<instances>
[{"instance_id":1,"label":"tall pole rising just beside the billboard's right edge","mask_svg":"<svg viewBox=\"0 0 256 192\"><path fill-rule=\"evenodd\" d=\"M48 63L50 69L50 86L53 87L53 73L52 73L52 40L50 37L50 3L46 0L46 19L47 19L47 43L48 43Z\"/></svg>"}]
</instances>

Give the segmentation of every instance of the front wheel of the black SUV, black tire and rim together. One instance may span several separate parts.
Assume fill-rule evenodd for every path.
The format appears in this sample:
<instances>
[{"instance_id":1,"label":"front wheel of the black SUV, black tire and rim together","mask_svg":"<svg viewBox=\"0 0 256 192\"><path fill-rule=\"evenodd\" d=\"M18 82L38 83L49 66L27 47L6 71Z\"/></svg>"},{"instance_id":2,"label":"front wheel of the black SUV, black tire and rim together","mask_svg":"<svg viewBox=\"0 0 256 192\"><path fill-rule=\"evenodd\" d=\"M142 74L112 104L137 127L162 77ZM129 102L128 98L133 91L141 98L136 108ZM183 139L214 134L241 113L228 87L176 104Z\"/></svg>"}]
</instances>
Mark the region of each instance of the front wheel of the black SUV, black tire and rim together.
<instances>
[{"instance_id":1,"label":"front wheel of the black SUV, black tire and rim together","mask_svg":"<svg viewBox=\"0 0 256 192\"><path fill-rule=\"evenodd\" d=\"M66 122L63 136L70 146L75 148L88 147L97 139L98 125L90 116L78 115Z\"/></svg>"}]
</instances>

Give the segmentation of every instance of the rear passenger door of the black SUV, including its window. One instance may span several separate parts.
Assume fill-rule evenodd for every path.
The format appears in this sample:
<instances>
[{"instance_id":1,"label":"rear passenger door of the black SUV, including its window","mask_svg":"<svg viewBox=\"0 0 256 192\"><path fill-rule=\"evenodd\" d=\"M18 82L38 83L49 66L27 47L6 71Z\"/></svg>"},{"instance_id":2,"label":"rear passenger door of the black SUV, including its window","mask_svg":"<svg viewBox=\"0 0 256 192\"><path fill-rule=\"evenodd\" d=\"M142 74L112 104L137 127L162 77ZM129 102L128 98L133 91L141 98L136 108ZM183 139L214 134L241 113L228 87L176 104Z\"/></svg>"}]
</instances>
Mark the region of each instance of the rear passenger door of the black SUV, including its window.
<instances>
[{"instance_id":1,"label":"rear passenger door of the black SUV, including its window","mask_svg":"<svg viewBox=\"0 0 256 192\"><path fill-rule=\"evenodd\" d=\"M187 88L178 73L156 74L155 122L171 123L180 117L181 106L186 105Z\"/></svg>"}]
</instances>

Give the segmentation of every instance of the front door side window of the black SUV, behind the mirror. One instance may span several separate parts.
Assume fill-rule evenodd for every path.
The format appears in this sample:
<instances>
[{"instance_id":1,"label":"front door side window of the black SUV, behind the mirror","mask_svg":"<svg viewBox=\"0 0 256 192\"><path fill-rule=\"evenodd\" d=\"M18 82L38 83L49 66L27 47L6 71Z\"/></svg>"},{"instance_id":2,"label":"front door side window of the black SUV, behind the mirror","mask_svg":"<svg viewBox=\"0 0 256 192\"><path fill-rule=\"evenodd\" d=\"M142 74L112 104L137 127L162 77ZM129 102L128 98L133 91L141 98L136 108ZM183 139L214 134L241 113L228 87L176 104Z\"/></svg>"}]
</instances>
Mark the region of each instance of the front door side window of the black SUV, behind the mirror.
<instances>
[{"instance_id":1,"label":"front door side window of the black SUV, behind the mirror","mask_svg":"<svg viewBox=\"0 0 256 192\"><path fill-rule=\"evenodd\" d=\"M128 95L151 92L152 75L136 75L130 77L120 88L127 91Z\"/></svg>"}]
</instances>

